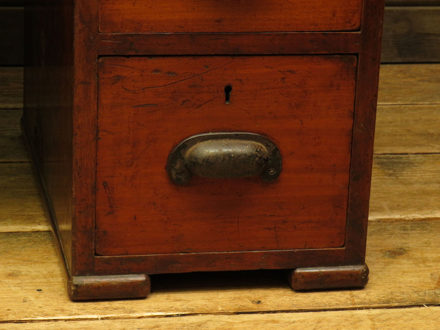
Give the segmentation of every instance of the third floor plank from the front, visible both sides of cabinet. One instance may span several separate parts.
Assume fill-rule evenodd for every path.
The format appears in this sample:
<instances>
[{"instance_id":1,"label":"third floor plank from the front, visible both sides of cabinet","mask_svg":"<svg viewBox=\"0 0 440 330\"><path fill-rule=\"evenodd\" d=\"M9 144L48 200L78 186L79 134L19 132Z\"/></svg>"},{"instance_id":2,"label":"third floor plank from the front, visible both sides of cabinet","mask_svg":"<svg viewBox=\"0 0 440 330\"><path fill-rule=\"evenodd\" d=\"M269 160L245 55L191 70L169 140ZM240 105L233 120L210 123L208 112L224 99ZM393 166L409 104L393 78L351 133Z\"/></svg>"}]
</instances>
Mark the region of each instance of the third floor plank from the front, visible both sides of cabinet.
<instances>
[{"instance_id":1,"label":"third floor plank from the front, visible both sides of cabinet","mask_svg":"<svg viewBox=\"0 0 440 330\"><path fill-rule=\"evenodd\" d=\"M48 231L30 164L0 164L0 232ZM440 154L375 155L370 220L440 218Z\"/></svg>"}]
</instances>

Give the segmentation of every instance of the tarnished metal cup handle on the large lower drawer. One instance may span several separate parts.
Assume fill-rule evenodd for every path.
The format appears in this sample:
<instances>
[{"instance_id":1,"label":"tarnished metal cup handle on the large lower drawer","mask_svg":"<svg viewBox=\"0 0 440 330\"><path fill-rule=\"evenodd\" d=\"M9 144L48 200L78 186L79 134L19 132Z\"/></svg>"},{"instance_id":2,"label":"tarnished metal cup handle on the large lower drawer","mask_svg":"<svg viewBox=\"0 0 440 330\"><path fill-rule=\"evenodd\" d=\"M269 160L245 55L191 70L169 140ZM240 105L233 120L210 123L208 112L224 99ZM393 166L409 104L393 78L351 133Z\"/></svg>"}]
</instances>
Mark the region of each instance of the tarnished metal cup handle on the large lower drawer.
<instances>
[{"instance_id":1,"label":"tarnished metal cup handle on the large lower drawer","mask_svg":"<svg viewBox=\"0 0 440 330\"><path fill-rule=\"evenodd\" d=\"M254 133L205 133L191 136L168 158L169 176L186 184L192 175L240 178L260 175L270 182L281 172L281 154L275 144Z\"/></svg>"}]
</instances>

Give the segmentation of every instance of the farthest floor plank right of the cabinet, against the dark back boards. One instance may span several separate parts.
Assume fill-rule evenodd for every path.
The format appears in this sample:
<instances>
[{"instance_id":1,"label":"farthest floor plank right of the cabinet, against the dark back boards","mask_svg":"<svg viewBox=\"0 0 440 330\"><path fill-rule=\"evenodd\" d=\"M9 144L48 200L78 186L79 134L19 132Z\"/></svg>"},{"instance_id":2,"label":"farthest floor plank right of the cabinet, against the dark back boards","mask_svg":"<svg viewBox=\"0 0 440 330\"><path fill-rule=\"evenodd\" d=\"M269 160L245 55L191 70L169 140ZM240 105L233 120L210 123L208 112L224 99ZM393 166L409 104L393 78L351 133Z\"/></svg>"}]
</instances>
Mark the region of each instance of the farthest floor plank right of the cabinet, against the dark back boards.
<instances>
[{"instance_id":1,"label":"farthest floor plank right of the cabinet, against the dark back boards","mask_svg":"<svg viewBox=\"0 0 440 330\"><path fill-rule=\"evenodd\" d=\"M440 103L440 64L382 64L378 104Z\"/></svg>"}]
</instances>

